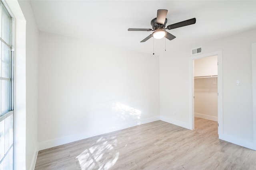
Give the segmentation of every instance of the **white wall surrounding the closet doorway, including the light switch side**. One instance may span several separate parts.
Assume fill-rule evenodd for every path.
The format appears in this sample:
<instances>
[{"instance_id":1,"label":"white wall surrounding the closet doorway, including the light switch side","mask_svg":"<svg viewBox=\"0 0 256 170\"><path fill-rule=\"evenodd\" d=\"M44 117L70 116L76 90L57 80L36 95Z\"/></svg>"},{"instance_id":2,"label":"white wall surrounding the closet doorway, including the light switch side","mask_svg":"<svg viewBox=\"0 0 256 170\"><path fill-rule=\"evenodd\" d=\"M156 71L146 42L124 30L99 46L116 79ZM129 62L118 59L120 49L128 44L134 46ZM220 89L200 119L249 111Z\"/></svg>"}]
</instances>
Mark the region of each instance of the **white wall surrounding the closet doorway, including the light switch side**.
<instances>
[{"instance_id":1,"label":"white wall surrounding the closet doorway, including the light switch side","mask_svg":"<svg viewBox=\"0 0 256 170\"><path fill-rule=\"evenodd\" d=\"M223 136L220 138L252 149L256 149L251 64L255 35L256 29L194 45L202 46L204 53L222 50ZM160 118L183 127L189 127L188 61L194 47L160 57ZM236 86L236 80L241 80L242 85Z\"/></svg>"}]
</instances>

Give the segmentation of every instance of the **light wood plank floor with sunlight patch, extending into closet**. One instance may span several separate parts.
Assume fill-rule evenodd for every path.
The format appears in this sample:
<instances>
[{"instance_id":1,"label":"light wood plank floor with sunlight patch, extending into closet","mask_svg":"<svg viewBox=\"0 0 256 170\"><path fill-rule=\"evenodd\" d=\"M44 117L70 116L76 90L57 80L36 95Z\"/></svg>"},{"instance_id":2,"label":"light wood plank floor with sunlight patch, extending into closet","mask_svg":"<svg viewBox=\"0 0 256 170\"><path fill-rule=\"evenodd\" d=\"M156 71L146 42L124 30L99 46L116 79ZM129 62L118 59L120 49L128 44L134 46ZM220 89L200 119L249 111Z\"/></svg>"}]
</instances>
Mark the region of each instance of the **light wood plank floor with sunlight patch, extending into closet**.
<instances>
[{"instance_id":1,"label":"light wood plank floor with sunlight patch, extending into closet","mask_svg":"<svg viewBox=\"0 0 256 170\"><path fill-rule=\"evenodd\" d=\"M218 139L217 122L191 131L154 121L40 150L35 170L256 170L256 151Z\"/></svg>"}]
</instances>

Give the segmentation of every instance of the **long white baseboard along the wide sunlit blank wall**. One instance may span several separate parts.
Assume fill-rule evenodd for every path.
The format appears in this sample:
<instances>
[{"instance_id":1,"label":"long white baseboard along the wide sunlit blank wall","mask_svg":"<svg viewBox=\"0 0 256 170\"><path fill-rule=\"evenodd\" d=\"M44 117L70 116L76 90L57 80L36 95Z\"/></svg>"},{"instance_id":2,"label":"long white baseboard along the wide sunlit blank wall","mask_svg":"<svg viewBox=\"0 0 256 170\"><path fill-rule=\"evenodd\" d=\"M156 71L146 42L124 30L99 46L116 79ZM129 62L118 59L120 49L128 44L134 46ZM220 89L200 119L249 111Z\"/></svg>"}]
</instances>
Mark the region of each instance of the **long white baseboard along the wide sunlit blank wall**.
<instances>
[{"instance_id":1,"label":"long white baseboard along the wide sunlit blank wall","mask_svg":"<svg viewBox=\"0 0 256 170\"><path fill-rule=\"evenodd\" d=\"M41 142L41 143L38 144L38 150L48 149L48 148L56 147L56 146L63 145L63 144L66 144L66 143L79 141L79 140L86 139L86 138L89 138L89 137L94 137L94 136L97 136L97 135L102 135L102 134L105 134L105 133L110 133L110 132L113 132L113 131L118 131L118 130L121 130L121 129L126 129L128 127L142 125L142 124L145 124L145 123L150 123L150 122L158 121L158 120L160 120L159 116L150 117L150 118L146 118L146 119L140 119L138 121L132 121L132 122L126 122L126 123L114 125L114 126L107 127L107 128L104 128L104 129L95 129L93 131L86 131L86 132L79 133L79 134L76 134L76 135L71 135L71 136L67 136L67 137L62 137L62 138L58 138L58 139L44 141L44 142Z\"/></svg>"}]
</instances>

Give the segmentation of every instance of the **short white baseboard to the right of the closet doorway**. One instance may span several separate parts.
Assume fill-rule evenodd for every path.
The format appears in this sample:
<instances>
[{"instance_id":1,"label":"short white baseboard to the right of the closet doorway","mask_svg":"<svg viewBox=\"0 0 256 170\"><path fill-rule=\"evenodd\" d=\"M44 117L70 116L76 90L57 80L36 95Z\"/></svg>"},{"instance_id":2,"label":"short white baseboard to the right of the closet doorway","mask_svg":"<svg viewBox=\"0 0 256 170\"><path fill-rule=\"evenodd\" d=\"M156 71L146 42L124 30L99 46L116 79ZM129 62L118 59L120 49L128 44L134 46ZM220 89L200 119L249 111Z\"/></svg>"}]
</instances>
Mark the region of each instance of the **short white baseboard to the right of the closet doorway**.
<instances>
[{"instance_id":1,"label":"short white baseboard to the right of the closet doorway","mask_svg":"<svg viewBox=\"0 0 256 170\"><path fill-rule=\"evenodd\" d=\"M252 150L256 150L256 143L250 142L250 141L244 141L243 139L240 139L238 137L222 134L222 135L219 135L219 139L230 142L230 143L234 143L236 145L246 147Z\"/></svg>"}]
</instances>

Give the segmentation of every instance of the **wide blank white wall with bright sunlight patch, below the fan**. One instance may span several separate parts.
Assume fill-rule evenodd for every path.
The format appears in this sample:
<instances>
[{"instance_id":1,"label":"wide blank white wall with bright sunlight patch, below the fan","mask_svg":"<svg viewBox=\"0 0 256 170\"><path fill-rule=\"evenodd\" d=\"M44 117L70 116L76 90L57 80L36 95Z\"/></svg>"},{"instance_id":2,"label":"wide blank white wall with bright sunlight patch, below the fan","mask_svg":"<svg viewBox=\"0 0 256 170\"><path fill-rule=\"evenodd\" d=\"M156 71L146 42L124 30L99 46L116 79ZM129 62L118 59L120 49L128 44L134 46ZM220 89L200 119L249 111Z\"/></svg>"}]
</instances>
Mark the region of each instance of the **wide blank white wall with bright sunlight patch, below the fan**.
<instances>
[{"instance_id":1,"label":"wide blank white wall with bright sunlight patch, below the fan","mask_svg":"<svg viewBox=\"0 0 256 170\"><path fill-rule=\"evenodd\" d=\"M40 32L39 149L159 119L159 58Z\"/></svg>"}]
</instances>

